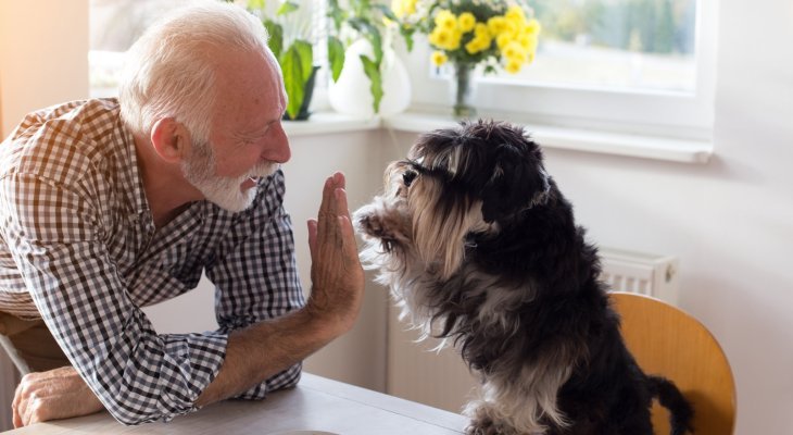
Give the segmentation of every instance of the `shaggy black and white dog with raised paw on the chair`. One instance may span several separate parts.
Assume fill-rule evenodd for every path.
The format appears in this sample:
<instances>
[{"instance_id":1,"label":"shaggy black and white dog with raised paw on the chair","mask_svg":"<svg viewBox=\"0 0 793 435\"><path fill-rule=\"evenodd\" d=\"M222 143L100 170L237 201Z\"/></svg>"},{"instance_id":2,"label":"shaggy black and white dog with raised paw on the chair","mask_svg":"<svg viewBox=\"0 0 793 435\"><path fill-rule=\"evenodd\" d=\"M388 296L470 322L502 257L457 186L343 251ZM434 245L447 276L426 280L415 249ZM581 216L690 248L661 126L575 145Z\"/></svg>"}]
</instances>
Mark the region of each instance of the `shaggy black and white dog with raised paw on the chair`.
<instances>
[{"instance_id":1,"label":"shaggy black and white dog with raised paw on the chair","mask_svg":"<svg viewBox=\"0 0 793 435\"><path fill-rule=\"evenodd\" d=\"M678 388L626 348L597 251L521 127L423 135L354 221L403 316L480 376L469 434L652 435L653 397L692 431Z\"/></svg>"}]
</instances>

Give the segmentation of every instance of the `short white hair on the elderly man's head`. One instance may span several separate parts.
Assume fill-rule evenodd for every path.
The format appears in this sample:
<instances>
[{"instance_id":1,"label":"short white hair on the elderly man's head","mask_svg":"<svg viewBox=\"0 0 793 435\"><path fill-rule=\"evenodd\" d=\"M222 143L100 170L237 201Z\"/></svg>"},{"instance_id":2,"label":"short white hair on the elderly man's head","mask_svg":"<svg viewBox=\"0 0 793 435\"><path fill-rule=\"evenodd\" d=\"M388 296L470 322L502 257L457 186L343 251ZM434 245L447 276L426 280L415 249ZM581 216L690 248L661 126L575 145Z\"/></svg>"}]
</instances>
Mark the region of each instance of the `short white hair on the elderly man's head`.
<instances>
[{"instance_id":1,"label":"short white hair on the elderly man's head","mask_svg":"<svg viewBox=\"0 0 793 435\"><path fill-rule=\"evenodd\" d=\"M267 30L244 9L216 0L191 3L158 21L127 52L119 83L121 115L133 133L148 137L154 123L174 117L205 142L217 100L219 50L264 55Z\"/></svg>"}]
</instances>

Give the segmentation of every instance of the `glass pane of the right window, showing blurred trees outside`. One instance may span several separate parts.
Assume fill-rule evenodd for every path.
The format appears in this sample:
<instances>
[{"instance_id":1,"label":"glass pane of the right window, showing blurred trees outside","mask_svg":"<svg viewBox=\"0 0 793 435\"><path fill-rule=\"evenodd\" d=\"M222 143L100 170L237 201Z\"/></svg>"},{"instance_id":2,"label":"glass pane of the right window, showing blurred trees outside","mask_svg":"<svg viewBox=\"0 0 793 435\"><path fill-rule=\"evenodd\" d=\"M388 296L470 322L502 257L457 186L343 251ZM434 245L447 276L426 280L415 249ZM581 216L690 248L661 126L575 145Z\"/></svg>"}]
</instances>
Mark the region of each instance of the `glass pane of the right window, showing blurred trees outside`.
<instances>
[{"instance_id":1,"label":"glass pane of the right window, showing blurred trees outside","mask_svg":"<svg viewBox=\"0 0 793 435\"><path fill-rule=\"evenodd\" d=\"M536 0L540 61L507 79L556 86L696 90L695 0Z\"/></svg>"}]
</instances>

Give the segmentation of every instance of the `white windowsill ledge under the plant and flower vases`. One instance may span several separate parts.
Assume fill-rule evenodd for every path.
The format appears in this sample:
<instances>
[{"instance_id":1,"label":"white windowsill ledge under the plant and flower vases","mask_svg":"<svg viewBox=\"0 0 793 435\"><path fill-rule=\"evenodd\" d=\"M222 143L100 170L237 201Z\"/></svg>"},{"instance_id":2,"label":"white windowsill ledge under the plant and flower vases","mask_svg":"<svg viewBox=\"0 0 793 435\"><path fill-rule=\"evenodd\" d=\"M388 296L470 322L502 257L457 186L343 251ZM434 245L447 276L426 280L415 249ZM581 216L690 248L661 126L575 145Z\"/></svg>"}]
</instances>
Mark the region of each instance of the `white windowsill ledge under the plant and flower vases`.
<instances>
[{"instance_id":1,"label":"white windowsill ledge under the plant and flower vases","mask_svg":"<svg viewBox=\"0 0 793 435\"><path fill-rule=\"evenodd\" d=\"M385 117L361 117L333 112L314 113L310 121L286 122L289 136L370 130L380 127L425 133L454 126L448 115L405 112ZM709 140L680 139L651 135L611 133L594 129L567 128L549 125L527 125L527 129L544 148L632 157L691 164L705 164L713 156Z\"/></svg>"}]
</instances>

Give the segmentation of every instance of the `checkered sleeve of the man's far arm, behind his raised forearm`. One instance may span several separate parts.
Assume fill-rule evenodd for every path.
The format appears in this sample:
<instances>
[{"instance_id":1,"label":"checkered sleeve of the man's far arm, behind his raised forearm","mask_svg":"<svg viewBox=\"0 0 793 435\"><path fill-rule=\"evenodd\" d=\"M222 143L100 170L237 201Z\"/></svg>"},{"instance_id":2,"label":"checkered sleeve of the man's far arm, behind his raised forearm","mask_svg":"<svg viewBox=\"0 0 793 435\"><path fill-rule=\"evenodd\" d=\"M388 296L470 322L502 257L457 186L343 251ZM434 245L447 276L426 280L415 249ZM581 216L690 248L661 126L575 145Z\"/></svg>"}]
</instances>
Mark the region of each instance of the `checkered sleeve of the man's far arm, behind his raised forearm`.
<instances>
[{"instance_id":1,"label":"checkered sleeve of the man's far arm, behind his raised forearm","mask_svg":"<svg viewBox=\"0 0 793 435\"><path fill-rule=\"evenodd\" d=\"M218 249L226 253L206 266L206 276L215 284L215 313L224 333L305 304L284 194L282 172L262 179L253 206L235 215ZM301 364L294 364L238 398L261 399L268 390L293 386L300 373Z\"/></svg>"}]
</instances>

